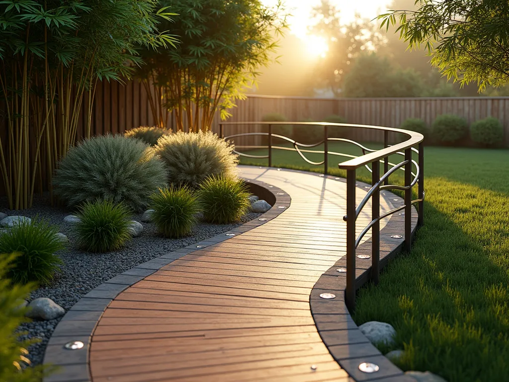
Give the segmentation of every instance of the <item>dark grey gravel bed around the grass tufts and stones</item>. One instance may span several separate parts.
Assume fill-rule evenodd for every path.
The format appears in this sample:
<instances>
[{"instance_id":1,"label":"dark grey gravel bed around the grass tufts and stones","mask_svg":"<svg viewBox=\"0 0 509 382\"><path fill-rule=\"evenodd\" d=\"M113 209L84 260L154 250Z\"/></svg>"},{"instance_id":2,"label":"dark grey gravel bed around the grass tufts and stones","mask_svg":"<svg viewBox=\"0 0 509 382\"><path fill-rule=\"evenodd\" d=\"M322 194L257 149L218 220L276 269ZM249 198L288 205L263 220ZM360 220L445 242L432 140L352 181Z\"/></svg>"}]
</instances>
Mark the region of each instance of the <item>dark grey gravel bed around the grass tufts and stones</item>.
<instances>
[{"instance_id":1,"label":"dark grey gravel bed around the grass tufts and stones","mask_svg":"<svg viewBox=\"0 0 509 382\"><path fill-rule=\"evenodd\" d=\"M2 203L2 207L5 205L6 203ZM73 233L72 224L63 222L64 216L71 212L50 206L45 198L36 199L33 207L27 210L10 211L6 208L0 208L0 211L8 215L23 215L31 218L38 215L40 219L58 226L59 232L64 233L69 238L70 243L67 249L58 253L64 264L61 271L56 275L54 282L51 285L41 286L29 298L30 302L34 298L49 297L66 311L90 290L138 264L229 231L261 215L260 213L247 213L242 217L241 222L229 225L200 222L194 228L191 236L181 239L161 237L157 234L153 223L142 223L144 228L142 234L139 237L132 238L121 250L93 254L76 248L74 244L76 236ZM132 220L140 222L141 217L141 213L133 214ZM41 341L29 347L29 358L33 364L42 363L46 344L61 318L48 321L33 320L20 326L21 331L27 332L26 335L21 337L22 339L39 339Z\"/></svg>"}]
</instances>

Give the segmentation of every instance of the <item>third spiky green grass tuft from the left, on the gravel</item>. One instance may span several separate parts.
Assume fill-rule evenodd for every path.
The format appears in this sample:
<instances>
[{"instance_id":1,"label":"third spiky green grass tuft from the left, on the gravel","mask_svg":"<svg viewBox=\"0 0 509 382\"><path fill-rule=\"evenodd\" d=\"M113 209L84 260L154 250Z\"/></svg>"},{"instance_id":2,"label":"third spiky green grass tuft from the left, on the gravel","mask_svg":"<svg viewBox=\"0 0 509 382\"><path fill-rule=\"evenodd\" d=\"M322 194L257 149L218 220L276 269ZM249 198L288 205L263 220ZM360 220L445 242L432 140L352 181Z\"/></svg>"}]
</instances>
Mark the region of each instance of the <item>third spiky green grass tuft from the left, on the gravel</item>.
<instances>
[{"instance_id":1,"label":"third spiky green grass tuft from the left, on the gravel","mask_svg":"<svg viewBox=\"0 0 509 382\"><path fill-rule=\"evenodd\" d=\"M187 186L166 187L152 195L152 221L159 232L171 238L189 235L197 223L200 202Z\"/></svg>"}]
</instances>

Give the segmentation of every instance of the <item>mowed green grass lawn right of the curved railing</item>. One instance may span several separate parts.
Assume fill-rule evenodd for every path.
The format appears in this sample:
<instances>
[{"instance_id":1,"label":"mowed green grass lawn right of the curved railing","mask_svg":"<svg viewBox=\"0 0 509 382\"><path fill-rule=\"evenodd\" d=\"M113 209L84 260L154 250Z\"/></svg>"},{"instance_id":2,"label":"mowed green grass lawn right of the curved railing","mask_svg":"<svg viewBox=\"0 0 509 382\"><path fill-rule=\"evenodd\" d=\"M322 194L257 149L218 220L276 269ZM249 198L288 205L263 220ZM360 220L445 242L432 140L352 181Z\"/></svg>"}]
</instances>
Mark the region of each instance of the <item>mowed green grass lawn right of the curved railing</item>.
<instances>
[{"instance_id":1,"label":"mowed green grass lawn right of the curved railing","mask_svg":"<svg viewBox=\"0 0 509 382\"><path fill-rule=\"evenodd\" d=\"M329 150L360 153L344 144ZM295 152L275 152L273 165L322 170ZM335 166L330 173L344 176ZM381 350L404 349L404 370L449 382L509 381L509 150L426 147L425 176L425 226L378 286L358 292L353 317L394 326L395 346ZM371 179L365 170L359 178Z\"/></svg>"}]
</instances>

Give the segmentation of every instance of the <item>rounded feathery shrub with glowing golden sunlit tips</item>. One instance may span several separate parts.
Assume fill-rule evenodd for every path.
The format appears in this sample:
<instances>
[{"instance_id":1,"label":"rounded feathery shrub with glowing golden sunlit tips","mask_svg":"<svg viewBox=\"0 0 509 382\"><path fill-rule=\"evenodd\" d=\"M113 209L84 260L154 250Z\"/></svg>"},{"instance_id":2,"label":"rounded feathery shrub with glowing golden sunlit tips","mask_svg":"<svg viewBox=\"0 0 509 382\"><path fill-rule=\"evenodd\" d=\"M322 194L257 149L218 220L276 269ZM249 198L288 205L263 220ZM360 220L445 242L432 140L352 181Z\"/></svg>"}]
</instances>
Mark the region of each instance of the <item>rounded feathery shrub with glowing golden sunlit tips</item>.
<instances>
[{"instance_id":1,"label":"rounded feathery shrub with glowing golden sunlit tips","mask_svg":"<svg viewBox=\"0 0 509 382\"><path fill-rule=\"evenodd\" d=\"M210 131L164 135L154 148L168 169L168 180L176 185L197 187L208 176L236 176L235 146Z\"/></svg>"}]
</instances>

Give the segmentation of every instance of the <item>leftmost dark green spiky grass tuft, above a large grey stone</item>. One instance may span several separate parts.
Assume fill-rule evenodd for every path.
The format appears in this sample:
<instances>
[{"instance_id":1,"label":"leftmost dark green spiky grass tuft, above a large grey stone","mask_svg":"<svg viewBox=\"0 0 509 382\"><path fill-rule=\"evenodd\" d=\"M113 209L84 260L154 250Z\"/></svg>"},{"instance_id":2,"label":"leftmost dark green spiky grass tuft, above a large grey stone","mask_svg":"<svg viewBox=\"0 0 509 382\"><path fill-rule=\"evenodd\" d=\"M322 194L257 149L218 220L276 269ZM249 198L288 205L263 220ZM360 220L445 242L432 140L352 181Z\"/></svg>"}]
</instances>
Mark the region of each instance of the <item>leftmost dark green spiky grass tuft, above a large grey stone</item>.
<instances>
[{"instance_id":1,"label":"leftmost dark green spiky grass tuft, above a large grey stone","mask_svg":"<svg viewBox=\"0 0 509 382\"><path fill-rule=\"evenodd\" d=\"M55 226L33 219L30 223L23 221L0 233L0 253L20 253L12 263L8 278L20 284L50 283L62 264L55 252L65 248L56 236L58 232Z\"/></svg>"}]
</instances>

